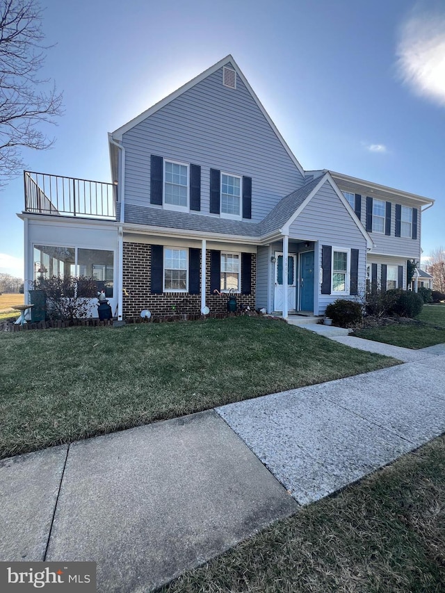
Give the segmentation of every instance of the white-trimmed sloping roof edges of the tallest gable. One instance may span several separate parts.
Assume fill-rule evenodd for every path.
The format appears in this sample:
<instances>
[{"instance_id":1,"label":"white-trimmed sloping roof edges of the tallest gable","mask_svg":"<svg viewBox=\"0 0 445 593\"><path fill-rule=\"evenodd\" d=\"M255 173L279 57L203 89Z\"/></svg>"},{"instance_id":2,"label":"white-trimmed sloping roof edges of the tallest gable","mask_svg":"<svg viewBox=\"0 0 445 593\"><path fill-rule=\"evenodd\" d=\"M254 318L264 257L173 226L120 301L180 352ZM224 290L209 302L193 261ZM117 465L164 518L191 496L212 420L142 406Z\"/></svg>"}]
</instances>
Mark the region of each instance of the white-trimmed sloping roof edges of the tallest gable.
<instances>
[{"instance_id":1,"label":"white-trimmed sloping roof edges of the tallest gable","mask_svg":"<svg viewBox=\"0 0 445 593\"><path fill-rule=\"evenodd\" d=\"M204 70L204 72L202 72L198 76L195 76L194 79L192 79L191 81L188 81L188 83L184 84L183 86L181 86L180 88L178 88L177 90L172 92L170 95L168 95L168 97L164 97L164 99L161 99L161 101L154 104L152 107L150 107L143 113L140 113L140 115L138 115L137 117L134 117L133 120L130 120L127 124L124 124L117 130L115 130L111 134L111 138L114 138L114 140L122 140L122 136L125 132L129 131L131 128L135 127L140 122L143 122L143 120L147 119L147 117L149 117L150 115L153 115L154 113L156 113L156 111L159 111L159 109L163 108L165 105L169 104L171 101L173 101L174 99L179 97L179 95L182 95L184 92L186 92L187 90L189 90L190 88L195 86L197 83L200 83L202 80L207 78L207 76L209 76L210 74L213 74L213 72L216 72L217 70L219 70L220 68L222 68L225 65L230 65L231 67L234 68L234 70L236 70L236 74L238 74L240 79L243 81L245 87L248 89L248 92L250 92L252 99L255 101L255 103L259 107L259 110L261 111L261 113L264 115L264 117L266 117L268 124L273 129L275 136L277 136L278 140L280 140L280 143L284 147L284 150L287 152L287 154L289 154L291 161L293 161L294 165L296 165L296 167L302 174L302 177L305 177L305 171L303 170L302 166L296 159L295 154L293 154L293 152L287 145L286 141L282 137L280 131L278 131L277 127L275 126L273 121L270 119L270 115L268 115L266 109L261 104L261 101L259 100L257 95L255 95L254 90L248 83L243 72L241 72L241 70L238 67L238 65L236 64L234 58L230 54L228 56L226 56L225 58L223 58L222 60L220 60L219 62L217 62L216 64L214 64L213 66L207 68L207 70ZM115 149L115 147L114 147L114 149Z\"/></svg>"}]
</instances>

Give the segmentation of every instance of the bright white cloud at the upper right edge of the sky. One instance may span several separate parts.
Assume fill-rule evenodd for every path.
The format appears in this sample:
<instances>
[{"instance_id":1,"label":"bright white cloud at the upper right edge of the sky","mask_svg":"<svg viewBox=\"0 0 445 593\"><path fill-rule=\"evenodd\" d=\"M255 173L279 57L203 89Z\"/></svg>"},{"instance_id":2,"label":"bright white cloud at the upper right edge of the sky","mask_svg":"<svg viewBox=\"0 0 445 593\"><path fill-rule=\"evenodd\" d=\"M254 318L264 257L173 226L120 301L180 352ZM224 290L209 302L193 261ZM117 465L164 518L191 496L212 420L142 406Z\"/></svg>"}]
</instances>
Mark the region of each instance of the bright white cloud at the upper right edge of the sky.
<instances>
[{"instance_id":1,"label":"bright white cloud at the upper right edge of the sky","mask_svg":"<svg viewBox=\"0 0 445 593\"><path fill-rule=\"evenodd\" d=\"M396 49L403 83L445 106L445 12L413 13L401 26Z\"/></svg>"}]
</instances>

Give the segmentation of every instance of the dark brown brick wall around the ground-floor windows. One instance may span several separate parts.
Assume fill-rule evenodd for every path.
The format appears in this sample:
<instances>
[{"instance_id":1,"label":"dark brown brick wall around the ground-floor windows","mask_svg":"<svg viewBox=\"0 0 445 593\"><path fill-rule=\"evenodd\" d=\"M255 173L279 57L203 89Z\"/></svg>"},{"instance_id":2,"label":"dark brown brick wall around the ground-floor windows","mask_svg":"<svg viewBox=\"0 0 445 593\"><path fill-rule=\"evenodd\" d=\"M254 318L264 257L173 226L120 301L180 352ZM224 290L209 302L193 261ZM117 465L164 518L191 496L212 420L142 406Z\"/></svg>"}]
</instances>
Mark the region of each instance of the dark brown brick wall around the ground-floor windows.
<instances>
[{"instance_id":1,"label":"dark brown brick wall around the ground-floor windows","mask_svg":"<svg viewBox=\"0 0 445 593\"><path fill-rule=\"evenodd\" d=\"M150 294L152 250L144 243L124 242L124 289L129 296L123 296L124 317L139 316L142 309L149 309L153 315L199 314L201 295L188 293ZM251 294L236 295L240 304L255 307L255 287L257 284L257 256L252 254ZM227 295L210 294L210 251L206 253L206 304L212 313L227 311ZM172 307L175 307L173 309Z\"/></svg>"}]
</instances>

